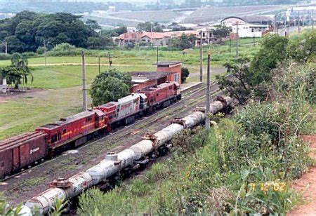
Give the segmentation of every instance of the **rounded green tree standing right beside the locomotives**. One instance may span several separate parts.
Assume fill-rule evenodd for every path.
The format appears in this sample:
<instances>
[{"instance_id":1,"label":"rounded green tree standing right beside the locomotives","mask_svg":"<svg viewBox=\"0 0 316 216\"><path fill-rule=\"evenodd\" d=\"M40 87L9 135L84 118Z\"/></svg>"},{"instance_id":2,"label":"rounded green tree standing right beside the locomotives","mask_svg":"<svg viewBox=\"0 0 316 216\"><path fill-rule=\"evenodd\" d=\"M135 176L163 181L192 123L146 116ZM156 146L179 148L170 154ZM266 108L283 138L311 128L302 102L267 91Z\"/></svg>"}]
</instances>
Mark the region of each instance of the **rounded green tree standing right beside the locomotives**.
<instances>
[{"instance_id":1,"label":"rounded green tree standing right beside the locomotives","mask_svg":"<svg viewBox=\"0 0 316 216\"><path fill-rule=\"evenodd\" d=\"M129 95L131 88L131 75L119 72L117 69L109 69L96 76L91 85L91 97L93 106L105 104Z\"/></svg>"}]
</instances>

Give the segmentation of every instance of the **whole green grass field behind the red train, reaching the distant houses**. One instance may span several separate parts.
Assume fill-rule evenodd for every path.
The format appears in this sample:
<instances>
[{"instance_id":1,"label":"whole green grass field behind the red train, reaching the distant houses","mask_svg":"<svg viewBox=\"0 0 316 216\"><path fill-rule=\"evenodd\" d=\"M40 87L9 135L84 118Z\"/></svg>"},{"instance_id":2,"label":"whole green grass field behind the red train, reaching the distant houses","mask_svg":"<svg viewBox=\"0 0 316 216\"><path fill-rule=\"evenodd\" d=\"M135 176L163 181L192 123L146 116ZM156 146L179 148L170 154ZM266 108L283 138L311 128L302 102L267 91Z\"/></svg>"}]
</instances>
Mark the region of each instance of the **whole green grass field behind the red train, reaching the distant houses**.
<instances>
[{"instance_id":1,"label":"whole green grass field behind the red train, reaching the distant houses","mask_svg":"<svg viewBox=\"0 0 316 216\"><path fill-rule=\"evenodd\" d=\"M228 46L211 46L204 48L204 62L207 52L212 53L213 72L223 71L220 66L225 61L235 57L234 51L229 52ZM253 55L258 46L242 46L241 56ZM111 50L114 68L124 72L155 71L152 65L157 61L156 50ZM87 52L88 53L88 52ZM98 54L104 51L91 51L95 56L87 56L87 64L98 64ZM188 81L198 81L199 50L159 52L159 60L184 60L185 67L189 67L191 77ZM44 64L44 58L29 58L29 65ZM48 64L81 63L81 56L48 56ZM107 58L101 59L101 64L107 64ZM9 65L9 60L0 61L0 67ZM204 63L206 69L206 62ZM218 69L219 68L219 69ZM101 71L109 69L109 66L101 66ZM4 97L0 101L0 140L32 131L37 126L60 119L79 112L81 107L81 66L80 65L51 65L32 66L34 82L26 86L42 88L34 93L19 95L18 97ZM97 65L86 66L87 83L91 83L98 74ZM212 76L213 77L213 76Z\"/></svg>"}]
</instances>

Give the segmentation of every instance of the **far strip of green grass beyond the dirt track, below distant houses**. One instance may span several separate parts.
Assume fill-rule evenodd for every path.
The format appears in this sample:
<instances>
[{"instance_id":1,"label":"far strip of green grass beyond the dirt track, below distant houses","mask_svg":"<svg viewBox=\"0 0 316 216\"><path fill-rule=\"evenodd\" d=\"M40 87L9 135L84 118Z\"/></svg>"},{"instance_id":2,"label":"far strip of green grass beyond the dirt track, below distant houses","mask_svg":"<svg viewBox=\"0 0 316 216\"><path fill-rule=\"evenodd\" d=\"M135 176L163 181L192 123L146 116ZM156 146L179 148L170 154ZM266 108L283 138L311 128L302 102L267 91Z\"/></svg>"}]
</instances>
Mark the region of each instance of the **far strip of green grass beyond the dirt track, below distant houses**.
<instances>
[{"instance_id":1,"label":"far strip of green grass beyond the dirt track, below distant houses","mask_svg":"<svg viewBox=\"0 0 316 216\"><path fill-rule=\"evenodd\" d=\"M258 50L258 46L241 46L239 48L240 56L252 55ZM249 53L250 51L250 53ZM207 53L211 52L213 64L222 65L225 61L235 58L235 50L230 50L229 46L205 46L204 61L206 61ZM152 65L157 62L157 50L111 50L112 62L114 65ZM104 51L93 51L93 55L86 56L87 64L98 64L98 54L104 54ZM159 50L159 61L180 60L187 65L199 65L199 50L197 48L185 51ZM29 65L44 65L44 57L29 58ZM81 64L81 56L48 56L48 64ZM10 60L1 60L0 67L10 65ZM108 58L101 58L101 64L108 64Z\"/></svg>"}]
</instances>

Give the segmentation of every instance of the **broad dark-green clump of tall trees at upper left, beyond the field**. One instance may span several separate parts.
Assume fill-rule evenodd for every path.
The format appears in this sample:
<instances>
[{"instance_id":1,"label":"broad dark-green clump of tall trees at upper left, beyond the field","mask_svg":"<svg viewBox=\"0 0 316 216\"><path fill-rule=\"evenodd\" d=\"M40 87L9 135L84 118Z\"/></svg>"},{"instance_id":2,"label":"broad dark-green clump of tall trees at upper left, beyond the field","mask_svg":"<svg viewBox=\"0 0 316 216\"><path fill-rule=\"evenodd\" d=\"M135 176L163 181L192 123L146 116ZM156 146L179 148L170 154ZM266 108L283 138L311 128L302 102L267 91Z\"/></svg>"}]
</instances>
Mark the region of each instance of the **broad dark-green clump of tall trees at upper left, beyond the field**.
<instances>
[{"instance_id":1,"label":"broad dark-green clump of tall trees at upper left, beyond the field","mask_svg":"<svg viewBox=\"0 0 316 216\"><path fill-rule=\"evenodd\" d=\"M0 20L0 41L8 42L9 53L36 51L44 41L54 45L70 43L88 46L88 37L96 36L98 24L70 13L41 14L22 11L11 19Z\"/></svg>"}]
</instances>

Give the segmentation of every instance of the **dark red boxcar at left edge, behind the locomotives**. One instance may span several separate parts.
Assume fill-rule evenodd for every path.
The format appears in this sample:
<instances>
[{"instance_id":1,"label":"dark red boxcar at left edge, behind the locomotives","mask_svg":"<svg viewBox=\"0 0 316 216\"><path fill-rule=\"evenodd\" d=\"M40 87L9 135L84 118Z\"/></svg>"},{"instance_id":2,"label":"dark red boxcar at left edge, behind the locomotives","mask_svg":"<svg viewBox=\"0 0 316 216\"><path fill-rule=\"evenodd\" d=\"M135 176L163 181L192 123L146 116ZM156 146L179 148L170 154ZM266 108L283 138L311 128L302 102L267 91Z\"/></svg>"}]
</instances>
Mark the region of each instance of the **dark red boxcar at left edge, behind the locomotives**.
<instances>
[{"instance_id":1,"label":"dark red boxcar at left edge, behind the locomotives","mask_svg":"<svg viewBox=\"0 0 316 216\"><path fill-rule=\"evenodd\" d=\"M47 156L46 133L32 132L0 141L0 178Z\"/></svg>"}]
</instances>

